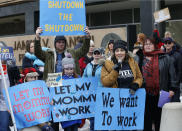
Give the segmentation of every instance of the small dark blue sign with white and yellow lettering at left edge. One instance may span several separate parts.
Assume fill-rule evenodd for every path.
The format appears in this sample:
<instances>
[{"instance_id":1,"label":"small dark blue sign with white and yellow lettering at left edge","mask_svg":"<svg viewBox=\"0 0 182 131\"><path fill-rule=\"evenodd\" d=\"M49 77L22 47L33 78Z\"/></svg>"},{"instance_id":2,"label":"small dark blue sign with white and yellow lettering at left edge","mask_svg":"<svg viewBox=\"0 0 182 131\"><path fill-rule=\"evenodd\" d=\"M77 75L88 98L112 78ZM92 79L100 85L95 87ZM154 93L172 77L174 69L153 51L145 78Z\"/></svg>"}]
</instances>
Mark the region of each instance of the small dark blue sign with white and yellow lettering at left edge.
<instances>
[{"instance_id":1,"label":"small dark blue sign with white and yellow lettering at left edge","mask_svg":"<svg viewBox=\"0 0 182 131\"><path fill-rule=\"evenodd\" d=\"M12 47L0 47L0 59L7 60L13 59L13 48Z\"/></svg>"}]
</instances>

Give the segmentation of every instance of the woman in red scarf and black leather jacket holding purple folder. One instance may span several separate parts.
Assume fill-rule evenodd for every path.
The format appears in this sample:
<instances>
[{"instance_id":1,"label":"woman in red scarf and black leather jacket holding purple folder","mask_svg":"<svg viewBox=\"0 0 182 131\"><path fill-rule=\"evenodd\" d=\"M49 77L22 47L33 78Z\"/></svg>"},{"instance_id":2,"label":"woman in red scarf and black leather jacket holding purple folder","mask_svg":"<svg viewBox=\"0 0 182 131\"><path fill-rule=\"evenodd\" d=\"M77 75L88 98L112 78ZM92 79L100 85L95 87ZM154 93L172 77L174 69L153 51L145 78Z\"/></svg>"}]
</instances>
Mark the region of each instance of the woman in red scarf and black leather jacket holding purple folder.
<instances>
[{"instance_id":1,"label":"woman in red scarf and black leather jacket holding purple folder","mask_svg":"<svg viewBox=\"0 0 182 131\"><path fill-rule=\"evenodd\" d=\"M173 60L159 49L154 38L146 38L142 60L143 87L146 89L144 131L159 131L161 108L158 107L160 90L168 91L169 97L178 88Z\"/></svg>"}]
</instances>

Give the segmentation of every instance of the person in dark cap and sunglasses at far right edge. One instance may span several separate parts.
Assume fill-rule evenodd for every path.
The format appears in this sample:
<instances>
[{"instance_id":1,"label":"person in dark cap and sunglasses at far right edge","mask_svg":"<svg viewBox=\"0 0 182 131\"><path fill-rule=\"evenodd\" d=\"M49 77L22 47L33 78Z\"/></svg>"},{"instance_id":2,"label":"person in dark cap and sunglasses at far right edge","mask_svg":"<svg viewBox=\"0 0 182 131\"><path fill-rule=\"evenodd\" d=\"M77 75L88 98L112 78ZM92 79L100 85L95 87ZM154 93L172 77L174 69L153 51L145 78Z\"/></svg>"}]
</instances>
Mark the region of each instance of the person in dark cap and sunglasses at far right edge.
<instances>
[{"instance_id":1,"label":"person in dark cap and sunglasses at far right edge","mask_svg":"<svg viewBox=\"0 0 182 131\"><path fill-rule=\"evenodd\" d=\"M164 52L168 54L174 61L174 68L177 75L177 83L180 87L180 82L182 81L182 59L181 54L177 51L176 44L171 37L164 38ZM180 88L176 90L174 96L172 97L172 102L180 102Z\"/></svg>"}]
</instances>

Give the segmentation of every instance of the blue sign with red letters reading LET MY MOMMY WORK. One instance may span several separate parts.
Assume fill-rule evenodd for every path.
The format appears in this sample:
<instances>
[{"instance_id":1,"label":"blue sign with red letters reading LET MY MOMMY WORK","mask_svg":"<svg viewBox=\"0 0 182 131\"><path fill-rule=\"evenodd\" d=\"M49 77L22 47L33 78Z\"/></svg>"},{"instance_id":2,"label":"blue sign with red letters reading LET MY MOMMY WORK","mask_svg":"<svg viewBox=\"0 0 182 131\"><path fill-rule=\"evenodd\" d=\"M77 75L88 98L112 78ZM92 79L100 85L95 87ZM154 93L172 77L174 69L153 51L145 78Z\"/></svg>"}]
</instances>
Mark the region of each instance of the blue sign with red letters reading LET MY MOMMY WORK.
<instances>
[{"instance_id":1,"label":"blue sign with red letters reading LET MY MOMMY WORK","mask_svg":"<svg viewBox=\"0 0 182 131\"><path fill-rule=\"evenodd\" d=\"M50 121L51 98L44 81L26 82L8 91L18 129Z\"/></svg>"}]
</instances>

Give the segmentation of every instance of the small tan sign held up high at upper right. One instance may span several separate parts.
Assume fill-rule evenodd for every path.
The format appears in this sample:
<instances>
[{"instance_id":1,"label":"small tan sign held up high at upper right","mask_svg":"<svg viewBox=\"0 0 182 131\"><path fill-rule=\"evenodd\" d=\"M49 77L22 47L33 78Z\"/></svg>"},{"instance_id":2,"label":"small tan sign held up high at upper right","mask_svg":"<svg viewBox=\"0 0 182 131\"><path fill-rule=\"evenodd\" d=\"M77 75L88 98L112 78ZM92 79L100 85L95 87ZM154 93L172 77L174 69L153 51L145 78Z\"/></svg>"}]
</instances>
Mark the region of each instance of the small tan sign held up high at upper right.
<instances>
[{"instance_id":1,"label":"small tan sign held up high at upper right","mask_svg":"<svg viewBox=\"0 0 182 131\"><path fill-rule=\"evenodd\" d=\"M165 8L165 9L154 12L154 18L155 18L155 22L157 23L171 19L169 9Z\"/></svg>"}]
</instances>

